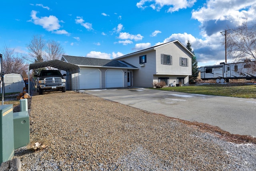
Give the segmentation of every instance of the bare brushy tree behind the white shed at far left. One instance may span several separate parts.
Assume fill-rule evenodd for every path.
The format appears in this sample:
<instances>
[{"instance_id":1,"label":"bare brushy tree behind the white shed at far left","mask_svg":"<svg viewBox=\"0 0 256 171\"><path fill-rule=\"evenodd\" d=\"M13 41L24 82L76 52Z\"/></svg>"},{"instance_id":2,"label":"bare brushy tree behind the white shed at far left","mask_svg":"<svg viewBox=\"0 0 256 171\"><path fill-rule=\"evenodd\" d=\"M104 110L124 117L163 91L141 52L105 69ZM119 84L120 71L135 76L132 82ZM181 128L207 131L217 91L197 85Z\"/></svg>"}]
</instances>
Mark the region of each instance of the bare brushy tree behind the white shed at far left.
<instances>
[{"instance_id":1,"label":"bare brushy tree behind the white shed at far left","mask_svg":"<svg viewBox=\"0 0 256 171\"><path fill-rule=\"evenodd\" d=\"M2 47L1 51L3 55L2 72L4 72L4 74L22 74L27 72L28 64L25 63L24 56L22 54L15 52L15 49L6 45Z\"/></svg>"}]
</instances>

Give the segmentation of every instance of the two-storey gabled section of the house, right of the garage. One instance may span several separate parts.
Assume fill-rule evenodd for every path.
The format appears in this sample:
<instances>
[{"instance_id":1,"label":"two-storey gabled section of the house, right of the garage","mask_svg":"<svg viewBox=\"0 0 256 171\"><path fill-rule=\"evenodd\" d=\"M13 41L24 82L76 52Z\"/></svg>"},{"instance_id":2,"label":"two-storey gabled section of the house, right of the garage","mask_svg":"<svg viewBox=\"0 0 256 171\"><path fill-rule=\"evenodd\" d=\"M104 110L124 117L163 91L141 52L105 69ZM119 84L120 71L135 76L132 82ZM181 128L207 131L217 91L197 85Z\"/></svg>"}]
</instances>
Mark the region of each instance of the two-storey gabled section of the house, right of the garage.
<instances>
[{"instance_id":1,"label":"two-storey gabled section of the house, right of the garage","mask_svg":"<svg viewBox=\"0 0 256 171\"><path fill-rule=\"evenodd\" d=\"M160 44L116 58L139 68L128 70L132 86L152 87L154 82L164 81L166 86L188 85L192 75L192 56L180 41Z\"/></svg>"}]
</instances>

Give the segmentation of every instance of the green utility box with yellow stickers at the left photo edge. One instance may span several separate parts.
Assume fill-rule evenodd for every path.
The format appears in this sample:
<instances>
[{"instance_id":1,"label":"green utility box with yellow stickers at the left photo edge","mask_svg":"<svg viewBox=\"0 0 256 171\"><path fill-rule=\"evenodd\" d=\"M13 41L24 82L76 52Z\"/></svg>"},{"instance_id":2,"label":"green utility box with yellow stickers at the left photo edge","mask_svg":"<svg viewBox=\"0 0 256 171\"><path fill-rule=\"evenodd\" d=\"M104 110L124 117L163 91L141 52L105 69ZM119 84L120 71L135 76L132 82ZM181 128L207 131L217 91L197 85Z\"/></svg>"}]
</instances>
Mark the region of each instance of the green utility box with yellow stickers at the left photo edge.
<instances>
[{"instance_id":1,"label":"green utility box with yellow stickers at the left photo edge","mask_svg":"<svg viewBox=\"0 0 256 171\"><path fill-rule=\"evenodd\" d=\"M12 105L0 105L0 113L0 163L2 163L14 156Z\"/></svg>"}]
</instances>

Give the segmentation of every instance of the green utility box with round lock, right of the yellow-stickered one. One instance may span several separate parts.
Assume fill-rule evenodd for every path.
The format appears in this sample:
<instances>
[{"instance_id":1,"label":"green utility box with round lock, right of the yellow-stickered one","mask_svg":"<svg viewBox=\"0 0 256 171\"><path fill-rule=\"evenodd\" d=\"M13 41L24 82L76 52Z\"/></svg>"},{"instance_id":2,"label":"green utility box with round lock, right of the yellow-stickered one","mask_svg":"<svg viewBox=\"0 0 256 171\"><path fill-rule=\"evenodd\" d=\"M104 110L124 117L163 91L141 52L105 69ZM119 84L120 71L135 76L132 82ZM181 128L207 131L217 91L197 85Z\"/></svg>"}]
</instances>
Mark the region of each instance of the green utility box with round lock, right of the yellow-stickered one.
<instances>
[{"instance_id":1,"label":"green utility box with round lock, right of the yellow-stickered one","mask_svg":"<svg viewBox=\"0 0 256 171\"><path fill-rule=\"evenodd\" d=\"M13 113L14 149L24 147L30 143L28 111Z\"/></svg>"}]
</instances>

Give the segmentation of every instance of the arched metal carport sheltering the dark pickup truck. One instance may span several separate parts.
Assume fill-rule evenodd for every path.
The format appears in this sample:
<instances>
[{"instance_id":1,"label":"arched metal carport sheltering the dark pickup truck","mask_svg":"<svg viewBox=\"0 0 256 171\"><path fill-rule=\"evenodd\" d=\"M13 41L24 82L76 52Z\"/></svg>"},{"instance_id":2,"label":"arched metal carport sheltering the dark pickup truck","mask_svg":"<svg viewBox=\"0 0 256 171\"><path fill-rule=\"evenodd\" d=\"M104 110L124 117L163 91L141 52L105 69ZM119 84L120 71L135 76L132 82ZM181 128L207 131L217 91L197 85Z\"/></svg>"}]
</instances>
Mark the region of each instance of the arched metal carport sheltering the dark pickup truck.
<instances>
[{"instance_id":1,"label":"arched metal carport sheltering the dark pickup truck","mask_svg":"<svg viewBox=\"0 0 256 171\"><path fill-rule=\"evenodd\" d=\"M70 64L68 62L64 62L61 60L51 60L51 61L44 61L44 62L37 62L30 64L28 67L28 83L30 83L30 70L34 70L37 68L44 68L44 67L53 67L53 68L58 68L60 70L64 70L67 72L67 81L72 80L72 74L76 74L80 72L80 67L74 64ZM79 74L78 74L79 76ZM78 86L79 89L79 86ZM30 84L28 84L28 93L30 94Z\"/></svg>"}]
</instances>

